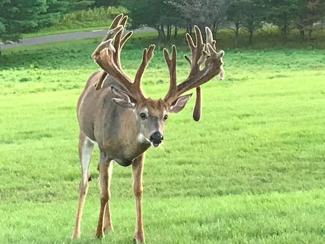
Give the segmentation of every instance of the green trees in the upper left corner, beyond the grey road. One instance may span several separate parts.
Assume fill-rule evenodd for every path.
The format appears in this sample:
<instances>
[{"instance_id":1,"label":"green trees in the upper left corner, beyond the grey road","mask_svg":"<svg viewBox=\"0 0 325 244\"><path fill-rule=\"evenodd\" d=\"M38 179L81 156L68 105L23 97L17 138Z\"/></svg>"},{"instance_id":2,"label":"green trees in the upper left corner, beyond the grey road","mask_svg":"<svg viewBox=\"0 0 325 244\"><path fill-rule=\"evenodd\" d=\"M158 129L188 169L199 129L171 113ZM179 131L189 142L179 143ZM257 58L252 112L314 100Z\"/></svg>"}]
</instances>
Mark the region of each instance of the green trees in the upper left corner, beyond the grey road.
<instances>
[{"instance_id":1,"label":"green trees in the upper left corner, beyond the grey road","mask_svg":"<svg viewBox=\"0 0 325 244\"><path fill-rule=\"evenodd\" d=\"M111 0L0 0L0 41L57 24L64 14L117 4Z\"/></svg>"}]
</instances>

